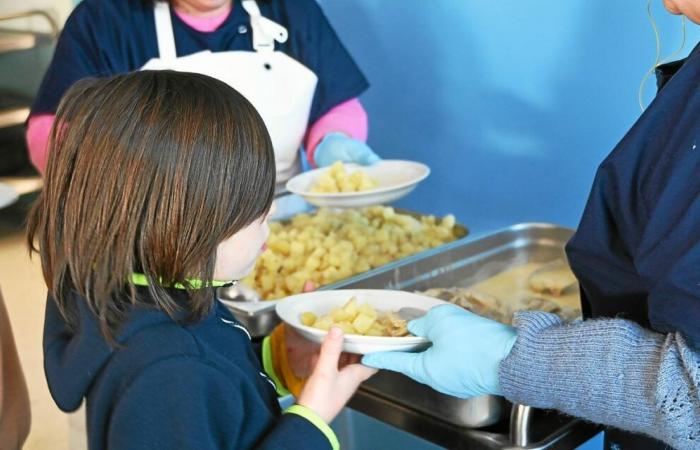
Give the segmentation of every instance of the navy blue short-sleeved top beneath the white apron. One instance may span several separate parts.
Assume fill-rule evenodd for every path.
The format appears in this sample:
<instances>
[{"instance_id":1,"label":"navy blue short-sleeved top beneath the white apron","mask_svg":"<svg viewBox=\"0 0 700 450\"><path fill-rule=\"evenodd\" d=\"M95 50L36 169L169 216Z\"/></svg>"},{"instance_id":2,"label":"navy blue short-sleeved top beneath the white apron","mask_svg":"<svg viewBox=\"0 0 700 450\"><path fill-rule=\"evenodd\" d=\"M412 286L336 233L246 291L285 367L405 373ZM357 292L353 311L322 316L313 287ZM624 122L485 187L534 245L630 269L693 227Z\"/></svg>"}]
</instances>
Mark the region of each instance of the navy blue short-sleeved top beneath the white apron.
<instances>
[{"instance_id":1,"label":"navy blue short-sleeved top beneath the white apron","mask_svg":"<svg viewBox=\"0 0 700 450\"><path fill-rule=\"evenodd\" d=\"M315 0L259 0L258 5L263 16L289 31L287 42L276 43L275 49L318 77L310 123L367 89L367 80ZM202 50L253 51L250 18L237 1L221 26L210 33L186 25L172 8L171 18L178 56ZM65 24L32 114L54 113L66 90L81 78L131 72L157 57L151 2L83 0Z\"/></svg>"}]
</instances>

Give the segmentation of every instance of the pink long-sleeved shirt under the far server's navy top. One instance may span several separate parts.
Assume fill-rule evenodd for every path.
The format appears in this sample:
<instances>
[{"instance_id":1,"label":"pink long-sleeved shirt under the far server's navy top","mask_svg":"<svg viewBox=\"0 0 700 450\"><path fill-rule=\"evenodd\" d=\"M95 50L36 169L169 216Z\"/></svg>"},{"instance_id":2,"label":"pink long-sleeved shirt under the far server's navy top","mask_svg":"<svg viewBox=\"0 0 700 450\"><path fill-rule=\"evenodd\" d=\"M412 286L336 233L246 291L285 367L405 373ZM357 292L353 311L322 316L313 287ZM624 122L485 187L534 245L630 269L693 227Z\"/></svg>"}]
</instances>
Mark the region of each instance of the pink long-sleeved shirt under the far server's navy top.
<instances>
[{"instance_id":1,"label":"pink long-sleeved shirt under the far server's navy top","mask_svg":"<svg viewBox=\"0 0 700 450\"><path fill-rule=\"evenodd\" d=\"M189 27L209 33L221 26L233 10L233 3L228 11L214 17L201 17L185 14L175 10L178 18ZM54 122L53 114L37 114L31 116L27 123L27 147L32 164L44 173L48 160L48 141L51 126ZM345 133L353 139L366 141L368 133L367 112L357 98L343 102L326 114L321 116L311 127L309 127L304 146L306 155L311 164L315 167L314 151L316 146L328 133Z\"/></svg>"}]
</instances>

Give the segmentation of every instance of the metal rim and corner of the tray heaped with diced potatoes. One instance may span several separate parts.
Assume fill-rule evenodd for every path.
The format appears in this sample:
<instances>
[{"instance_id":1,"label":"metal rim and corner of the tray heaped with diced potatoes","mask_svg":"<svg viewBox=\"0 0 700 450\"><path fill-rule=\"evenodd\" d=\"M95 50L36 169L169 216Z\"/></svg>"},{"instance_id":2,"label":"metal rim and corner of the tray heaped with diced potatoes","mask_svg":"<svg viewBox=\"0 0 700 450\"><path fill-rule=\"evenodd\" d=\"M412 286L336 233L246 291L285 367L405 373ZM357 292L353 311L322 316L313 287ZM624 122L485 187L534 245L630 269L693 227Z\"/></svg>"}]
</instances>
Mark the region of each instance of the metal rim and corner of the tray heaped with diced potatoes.
<instances>
[{"instance_id":1,"label":"metal rim and corner of the tray heaped with diced potatoes","mask_svg":"<svg viewBox=\"0 0 700 450\"><path fill-rule=\"evenodd\" d=\"M409 216L415 217L416 219L420 219L421 217L426 216L426 214L421 214L416 211L410 211L401 208L394 209L397 213L408 214ZM291 221L291 218L282 219L281 221L289 222ZM469 234L469 229L466 226L459 223L455 224L455 231L458 239L463 239ZM451 244L452 242L445 245ZM420 253L416 253L415 255L412 255L410 257L394 261L390 264L364 272L357 276L370 275L373 273L381 272L384 270L385 267L393 266L394 264L401 263L402 261L407 261L409 259L415 258L416 256L430 254L440 248L445 247L445 245L436 247L434 249L426 250ZM354 277L348 278L348 280L354 279ZM345 280L341 280L341 282L343 281ZM335 284L323 286L319 289L329 289L329 286L335 286ZM243 292L241 292L241 289L239 289L239 287L237 286L219 288L217 290L217 295L220 300L224 301L225 305L228 307L228 309L231 311L234 317L236 317L236 319L248 329L248 332L254 338L267 336L268 334L270 334L272 329L280 322L279 318L277 317L277 314L275 313L275 305L277 304L277 301L260 300L259 296L257 296L252 289L246 289ZM250 308L244 307L249 305L243 305L243 303L258 303L260 307L255 308L255 310L251 310Z\"/></svg>"}]
</instances>

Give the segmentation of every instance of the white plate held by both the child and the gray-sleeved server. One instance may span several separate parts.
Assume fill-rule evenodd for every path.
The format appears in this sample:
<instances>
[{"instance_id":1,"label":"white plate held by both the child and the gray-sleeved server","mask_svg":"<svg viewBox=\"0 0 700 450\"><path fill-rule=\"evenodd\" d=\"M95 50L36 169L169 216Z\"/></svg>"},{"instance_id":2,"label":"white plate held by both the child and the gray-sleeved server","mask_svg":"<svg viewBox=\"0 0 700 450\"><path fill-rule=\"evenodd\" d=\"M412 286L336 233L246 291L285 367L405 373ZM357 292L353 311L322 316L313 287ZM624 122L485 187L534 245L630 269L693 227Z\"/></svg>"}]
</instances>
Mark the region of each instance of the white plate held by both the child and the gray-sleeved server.
<instances>
[{"instance_id":1,"label":"white plate held by both the child and the gray-sleeved server","mask_svg":"<svg viewBox=\"0 0 700 450\"><path fill-rule=\"evenodd\" d=\"M384 312L398 311L403 307L420 308L427 311L434 306L446 303L436 298L403 291L381 289L315 291L285 298L277 304L277 315L305 338L320 343L327 332L302 325L299 320L301 313L310 311L320 316L333 308L343 306L353 296L357 297L358 303L369 303L373 308ZM421 350L428 347L429 344L427 339L416 336L378 337L346 334L343 350L364 355L365 353L381 351Z\"/></svg>"}]
</instances>

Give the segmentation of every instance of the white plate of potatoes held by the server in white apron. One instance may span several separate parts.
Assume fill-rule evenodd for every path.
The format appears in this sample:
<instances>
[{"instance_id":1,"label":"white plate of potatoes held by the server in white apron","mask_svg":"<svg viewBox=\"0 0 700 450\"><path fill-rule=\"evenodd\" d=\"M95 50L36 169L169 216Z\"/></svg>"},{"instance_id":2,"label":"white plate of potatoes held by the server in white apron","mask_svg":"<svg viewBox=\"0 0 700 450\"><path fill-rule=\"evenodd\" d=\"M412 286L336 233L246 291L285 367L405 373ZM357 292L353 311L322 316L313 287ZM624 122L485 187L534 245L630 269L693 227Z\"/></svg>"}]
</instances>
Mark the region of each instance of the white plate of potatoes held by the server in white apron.
<instances>
[{"instance_id":1,"label":"white plate of potatoes held by the server in white apron","mask_svg":"<svg viewBox=\"0 0 700 450\"><path fill-rule=\"evenodd\" d=\"M324 167L293 177L287 181L287 190L293 194L301 195L312 205L331 208L359 208L383 205L398 200L415 189L418 183L430 175L428 166L414 161L385 159L371 166L346 164L345 167L348 173L357 170L364 171L370 178L376 180L379 186L362 192L311 192L318 178L330 170L329 167Z\"/></svg>"}]
</instances>

